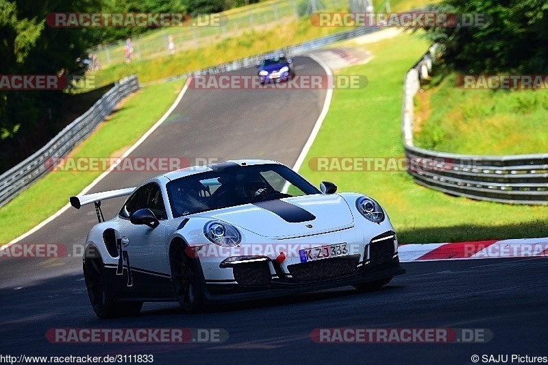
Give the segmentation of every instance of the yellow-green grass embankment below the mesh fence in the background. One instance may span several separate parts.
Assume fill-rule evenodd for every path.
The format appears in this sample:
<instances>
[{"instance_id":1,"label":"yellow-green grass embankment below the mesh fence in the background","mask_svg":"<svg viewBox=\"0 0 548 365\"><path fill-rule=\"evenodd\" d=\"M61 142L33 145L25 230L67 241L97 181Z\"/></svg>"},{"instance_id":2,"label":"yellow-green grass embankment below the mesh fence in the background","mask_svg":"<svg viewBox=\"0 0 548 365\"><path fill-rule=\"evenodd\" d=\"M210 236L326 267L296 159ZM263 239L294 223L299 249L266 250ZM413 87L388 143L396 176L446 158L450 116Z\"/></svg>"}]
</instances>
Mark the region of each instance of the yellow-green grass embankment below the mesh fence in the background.
<instances>
[{"instance_id":1,"label":"yellow-green grass embankment below the mesh fence in the background","mask_svg":"<svg viewBox=\"0 0 548 365\"><path fill-rule=\"evenodd\" d=\"M427 3L437 1L430 0L393 0L390 1L392 12L403 12L413 8L419 8ZM247 14L248 9L253 10L253 6L248 5L226 12L230 18L232 12ZM377 5L381 8L382 4ZM324 9L325 12L346 12L348 5L341 3L338 8ZM384 10L386 11L386 10ZM312 25L308 17L284 18L281 23L272 23L269 27L261 26L257 29L249 29L244 32L227 32L221 36L217 35L211 39L199 40L195 47L177 52L173 55L161 55L153 60L134 60L127 64L125 62L113 63L97 71L95 75L99 76L102 84L112 83L127 75L137 73L141 83L155 81L175 75L182 75L186 72L196 71L201 68L223 64L240 58L245 58L258 53L266 53L276 49L282 49L290 45L296 45L307 40L312 40L329 34L344 32L349 27L317 27ZM161 36L163 30L151 32L145 37L157 38ZM123 50L123 48L121 48ZM123 51L119 51L120 58L123 60Z\"/></svg>"}]
</instances>

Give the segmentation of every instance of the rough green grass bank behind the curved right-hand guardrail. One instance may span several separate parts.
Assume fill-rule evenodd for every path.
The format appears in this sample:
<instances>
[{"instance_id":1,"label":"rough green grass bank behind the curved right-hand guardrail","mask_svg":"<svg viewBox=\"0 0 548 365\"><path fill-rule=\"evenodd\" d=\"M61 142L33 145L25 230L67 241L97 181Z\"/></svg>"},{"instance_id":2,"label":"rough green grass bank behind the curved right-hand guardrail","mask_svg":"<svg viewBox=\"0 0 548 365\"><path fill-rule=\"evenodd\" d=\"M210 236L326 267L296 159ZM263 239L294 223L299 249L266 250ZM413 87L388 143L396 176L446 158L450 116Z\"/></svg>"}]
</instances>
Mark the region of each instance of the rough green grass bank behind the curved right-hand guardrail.
<instances>
[{"instance_id":1,"label":"rough green grass bank behind the curved right-hand guardrail","mask_svg":"<svg viewBox=\"0 0 548 365\"><path fill-rule=\"evenodd\" d=\"M545 90L466 90L450 73L416 97L418 147L474 155L548 152Z\"/></svg>"}]
</instances>

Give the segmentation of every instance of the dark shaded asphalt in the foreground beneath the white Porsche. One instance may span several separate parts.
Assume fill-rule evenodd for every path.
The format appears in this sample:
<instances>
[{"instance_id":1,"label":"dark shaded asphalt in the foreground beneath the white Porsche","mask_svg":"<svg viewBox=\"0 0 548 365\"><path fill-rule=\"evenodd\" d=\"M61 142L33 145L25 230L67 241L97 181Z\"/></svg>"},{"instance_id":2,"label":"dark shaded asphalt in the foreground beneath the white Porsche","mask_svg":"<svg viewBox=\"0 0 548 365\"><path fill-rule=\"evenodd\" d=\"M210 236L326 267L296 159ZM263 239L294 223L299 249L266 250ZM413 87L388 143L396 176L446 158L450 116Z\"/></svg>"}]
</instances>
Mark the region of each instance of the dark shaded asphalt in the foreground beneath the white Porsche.
<instances>
[{"instance_id":1,"label":"dark shaded asphalt in the foreground beneath the white Porsche","mask_svg":"<svg viewBox=\"0 0 548 365\"><path fill-rule=\"evenodd\" d=\"M155 364L341 363L471 364L472 355L546 356L548 260L413 262L375 292L351 287L298 297L213 307L185 315L175 303L145 303L138 317L99 320L82 275L21 290L0 290L2 353L153 354ZM221 344L58 344L50 328L222 328ZM487 343L315 343L324 327L487 329Z\"/></svg>"}]
</instances>

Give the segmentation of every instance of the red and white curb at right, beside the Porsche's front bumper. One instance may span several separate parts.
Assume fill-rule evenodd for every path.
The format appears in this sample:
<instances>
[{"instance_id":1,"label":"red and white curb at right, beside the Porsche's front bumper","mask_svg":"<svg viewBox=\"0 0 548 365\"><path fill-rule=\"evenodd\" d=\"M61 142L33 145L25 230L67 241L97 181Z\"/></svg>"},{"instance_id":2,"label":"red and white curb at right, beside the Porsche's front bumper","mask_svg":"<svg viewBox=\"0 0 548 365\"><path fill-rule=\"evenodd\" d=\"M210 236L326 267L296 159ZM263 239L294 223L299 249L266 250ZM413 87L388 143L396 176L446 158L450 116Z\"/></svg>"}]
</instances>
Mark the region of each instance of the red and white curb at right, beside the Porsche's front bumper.
<instances>
[{"instance_id":1,"label":"red and white curb at right, beside the Porsche's front bumper","mask_svg":"<svg viewBox=\"0 0 548 365\"><path fill-rule=\"evenodd\" d=\"M400 262L548 257L548 237L427 244L401 244Z\"/></svg>"}]
</instances>

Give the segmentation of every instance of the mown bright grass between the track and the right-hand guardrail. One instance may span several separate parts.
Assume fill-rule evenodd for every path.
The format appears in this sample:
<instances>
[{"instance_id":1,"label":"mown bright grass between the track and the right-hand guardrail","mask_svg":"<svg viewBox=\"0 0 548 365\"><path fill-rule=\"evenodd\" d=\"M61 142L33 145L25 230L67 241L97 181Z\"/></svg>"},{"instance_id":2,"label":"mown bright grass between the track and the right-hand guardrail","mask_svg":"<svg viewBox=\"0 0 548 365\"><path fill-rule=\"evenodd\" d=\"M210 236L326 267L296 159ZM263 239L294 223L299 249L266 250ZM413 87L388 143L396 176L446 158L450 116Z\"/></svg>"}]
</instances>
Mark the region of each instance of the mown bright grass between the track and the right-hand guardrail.
<instances>
[{"instance_id":1,"label":"mown bright grass between the track and the right-hand guardrail","mask_svg":"<svg viewBox=\"0 0 548 365\"><path fill-rule=\"evenodd\" d=\"M329 180L340 192L370 194L390 214L400 242L548 236L545 206L449 197L414 184L404 171L312 171L308 161L315 157L403 157L403 75L427 44L417 36L403 34L366 47L373 52L373 60L340 73L366 75L369 84L360 90L334 90L329 113L300 173L316 185Z\"/></svg>"}]
</instances>

